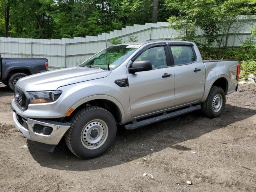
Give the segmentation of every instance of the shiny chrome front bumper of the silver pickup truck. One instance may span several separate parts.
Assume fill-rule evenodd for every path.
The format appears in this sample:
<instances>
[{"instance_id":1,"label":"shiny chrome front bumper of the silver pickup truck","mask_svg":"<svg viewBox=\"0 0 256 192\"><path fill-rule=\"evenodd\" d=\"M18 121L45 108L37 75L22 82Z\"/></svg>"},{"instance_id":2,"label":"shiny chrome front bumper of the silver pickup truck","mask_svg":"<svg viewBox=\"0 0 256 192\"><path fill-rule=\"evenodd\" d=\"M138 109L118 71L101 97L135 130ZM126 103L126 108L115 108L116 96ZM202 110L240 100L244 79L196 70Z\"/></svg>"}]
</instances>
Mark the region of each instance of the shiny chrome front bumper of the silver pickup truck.
<instances>
[{"instance_id":1,"label":"shiny chrome front bumper of the silver pickup truck","mask_svg":"<svg viewBox=\"0 0 256 192\"><path fill-rule=\"evenodd\" d=\"M70 123L60 123L44 119L30 119L22 116L18 116L16 112L12 114L14 124L22 134L29 140L36 141L39 143L57 145L62 136L70 128ZM52 128L52 132L49 135L37 133L34 131L34 125L47 126Z\"/></svg>"}]
</instances>

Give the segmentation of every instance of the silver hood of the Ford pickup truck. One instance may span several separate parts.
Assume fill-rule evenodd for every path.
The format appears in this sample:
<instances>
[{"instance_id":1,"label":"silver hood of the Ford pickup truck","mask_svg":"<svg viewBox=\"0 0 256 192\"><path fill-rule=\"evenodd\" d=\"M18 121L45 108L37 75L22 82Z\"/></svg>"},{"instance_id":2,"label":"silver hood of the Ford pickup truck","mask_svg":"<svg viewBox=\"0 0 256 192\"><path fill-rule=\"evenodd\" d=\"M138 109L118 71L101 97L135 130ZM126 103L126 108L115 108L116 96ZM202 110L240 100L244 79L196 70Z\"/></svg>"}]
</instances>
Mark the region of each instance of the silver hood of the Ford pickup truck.
<instances>
[{"instance_id":1,"label":"silver hood of the Ford pickup truck","mask_svg":"<svg viewBox=\"0 0 256 192\"><path fill-rule=\"evenodd\" d=\"M110 71L98 68L72 67L30 75L18 80L16 86L25 91L57 90L61 86L106 77Z\"/></svg>"}]
</instances>

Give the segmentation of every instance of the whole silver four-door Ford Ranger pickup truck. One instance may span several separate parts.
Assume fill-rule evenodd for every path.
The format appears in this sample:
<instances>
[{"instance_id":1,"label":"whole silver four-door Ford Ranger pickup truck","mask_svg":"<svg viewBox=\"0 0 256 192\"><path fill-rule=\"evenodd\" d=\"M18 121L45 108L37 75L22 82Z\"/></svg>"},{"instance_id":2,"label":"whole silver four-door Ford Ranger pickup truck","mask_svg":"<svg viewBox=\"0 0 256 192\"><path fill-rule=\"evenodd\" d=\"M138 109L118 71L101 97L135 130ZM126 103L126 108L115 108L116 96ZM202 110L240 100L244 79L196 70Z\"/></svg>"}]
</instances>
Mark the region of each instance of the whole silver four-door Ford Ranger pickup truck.
<instances>
[{"instance_id":1,"label":"whole silver four-door Ford Ranger pickup truck","mask_svg":"<svg viewBox=\"0 0 256 192\"><path fill-rule=\"evenodd\" d=\"M74 155L94 158L113 144L117 124L131 130L201 108L220 116L239 72L238 61L202 60L192 42L119 44L79 67L18 80L13 119L42 150L65 137Z\"/></svg>"}]
</instances>

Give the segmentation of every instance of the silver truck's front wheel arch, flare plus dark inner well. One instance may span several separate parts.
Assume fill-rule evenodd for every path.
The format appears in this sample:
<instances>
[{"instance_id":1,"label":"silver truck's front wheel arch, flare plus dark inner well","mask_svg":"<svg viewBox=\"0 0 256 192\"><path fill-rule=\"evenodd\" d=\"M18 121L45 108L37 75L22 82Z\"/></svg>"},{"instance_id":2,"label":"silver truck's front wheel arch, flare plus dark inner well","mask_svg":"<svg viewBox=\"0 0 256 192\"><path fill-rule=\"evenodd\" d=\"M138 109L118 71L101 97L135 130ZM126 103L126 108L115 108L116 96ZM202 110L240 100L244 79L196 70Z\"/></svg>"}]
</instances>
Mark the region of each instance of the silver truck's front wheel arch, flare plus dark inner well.
<instances>
[{"instance_id":1,"label":"silver truck's front wheel arch, flare plus dark inner well","mask_svg":"<svg viewBox=\"0 0 256 192\"><path fill-rule=\"evenodd\" d=\"M107 95L89 96L79 100L71 107L74 109L74 111L70 114L70 116L88 105L98 106L108 110L114 116L117 123L121 124L125 121L125 112L123 106L118 100Z\"/></svg>"}]
</instances>

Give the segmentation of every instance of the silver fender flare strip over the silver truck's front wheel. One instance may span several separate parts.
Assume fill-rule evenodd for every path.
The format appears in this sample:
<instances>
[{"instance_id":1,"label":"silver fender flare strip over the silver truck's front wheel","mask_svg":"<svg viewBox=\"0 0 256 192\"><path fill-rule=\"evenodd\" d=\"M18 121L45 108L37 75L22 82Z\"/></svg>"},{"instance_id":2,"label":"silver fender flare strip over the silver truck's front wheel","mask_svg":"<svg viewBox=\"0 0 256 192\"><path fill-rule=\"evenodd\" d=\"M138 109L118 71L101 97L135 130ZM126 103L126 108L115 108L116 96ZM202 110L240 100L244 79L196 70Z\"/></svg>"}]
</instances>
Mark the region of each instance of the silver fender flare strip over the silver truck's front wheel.
<instances>
[{"instance_id":1,"label":"silver fender flare strip over the silver truck's front wheel","mask_svg":"<svg viewBox=\"0 0 256 192\"><path fill-rule=\"evenodd\" d=\"M88 97L83 98L83 99L79 100L78 102L76 102L74 105L71 106L71 108L76 110L76 108L78 108L82 104L84 104L86 102L89 102L89 101L92 101L92 100L96 100L96 99L105 99L105 100L109 100L109 101L113 102L117 106L119 111L120 111L121 122L125 122L124 108L123 108L122 104L116 98L114 98L112 96L108 96L108 95L92 95L92 96L88 96Z\"/></svg>"}]
</instances>

